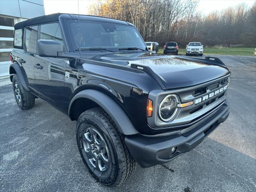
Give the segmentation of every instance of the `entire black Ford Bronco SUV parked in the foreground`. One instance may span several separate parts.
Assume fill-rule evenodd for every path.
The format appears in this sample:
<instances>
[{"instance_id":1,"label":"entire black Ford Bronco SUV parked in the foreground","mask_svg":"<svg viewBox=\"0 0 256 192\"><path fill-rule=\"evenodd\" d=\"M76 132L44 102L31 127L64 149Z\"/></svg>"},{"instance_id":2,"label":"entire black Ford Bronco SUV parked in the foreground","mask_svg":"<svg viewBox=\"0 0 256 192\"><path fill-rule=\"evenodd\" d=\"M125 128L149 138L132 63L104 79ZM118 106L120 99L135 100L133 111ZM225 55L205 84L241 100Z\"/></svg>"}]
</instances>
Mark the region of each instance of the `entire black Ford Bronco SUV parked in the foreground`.
<instances>
[{"instance_id":1,"label":"entire black Ford Bronco SUV parked in the foreground","mask_svg":"<svg viewBox=\"0 0 256 192\"><path fill-rule=\"evenodd\" d=\"M76 120L78 150L107 186L192 150L226 120L230 71L213 57L149 52L135 26L52 14L17 23L10 80L18 106L41 98Z\"/></svg>"}]
</instances>

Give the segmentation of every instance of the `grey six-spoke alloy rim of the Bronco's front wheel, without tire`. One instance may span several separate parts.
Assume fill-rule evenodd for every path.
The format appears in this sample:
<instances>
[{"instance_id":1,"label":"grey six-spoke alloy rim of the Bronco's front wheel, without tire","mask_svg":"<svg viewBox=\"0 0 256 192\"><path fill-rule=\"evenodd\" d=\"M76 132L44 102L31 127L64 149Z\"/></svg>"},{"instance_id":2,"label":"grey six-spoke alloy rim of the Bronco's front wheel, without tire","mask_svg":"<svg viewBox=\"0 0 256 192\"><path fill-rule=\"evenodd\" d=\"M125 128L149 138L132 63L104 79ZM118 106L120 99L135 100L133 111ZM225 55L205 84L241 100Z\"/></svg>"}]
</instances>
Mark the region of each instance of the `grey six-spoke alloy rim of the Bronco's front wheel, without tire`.
<instances>
[{"instance_id":1,"label":"grey six-spoke alloy rim of the Bronco's front wheel, without tire","mask_svg":"<svg viewBox=\"0 0 256 192\"><path fill-rule=\"evenodd\" d=\"M106 142L96 129L88 127L84 130L82 144L90 164L100 172L108 170L110 153Z\"/></svg>"}]
</instances>

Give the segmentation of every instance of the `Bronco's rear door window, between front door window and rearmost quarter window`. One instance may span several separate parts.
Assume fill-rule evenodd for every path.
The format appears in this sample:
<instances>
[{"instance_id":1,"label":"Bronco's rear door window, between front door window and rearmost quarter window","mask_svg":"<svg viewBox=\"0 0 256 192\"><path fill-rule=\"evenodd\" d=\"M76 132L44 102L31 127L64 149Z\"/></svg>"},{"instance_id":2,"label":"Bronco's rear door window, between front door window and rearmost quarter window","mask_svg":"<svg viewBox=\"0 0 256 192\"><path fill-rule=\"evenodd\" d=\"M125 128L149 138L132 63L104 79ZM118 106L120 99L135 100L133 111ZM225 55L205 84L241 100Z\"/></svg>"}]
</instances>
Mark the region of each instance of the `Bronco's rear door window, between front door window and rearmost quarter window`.
<instances>
[{"instance_id":1,"label":"Bronco's rear door window, between front door window and rearmost quarter window","mask_svg":"<svg viewBox=\"0 0 256 192\"><path fill-rule=\"evenodd\" d=\"M31 53L36 53L37 29L38 26L26 27L25 44L27 51Z\"/></svg>"}]
</instances>

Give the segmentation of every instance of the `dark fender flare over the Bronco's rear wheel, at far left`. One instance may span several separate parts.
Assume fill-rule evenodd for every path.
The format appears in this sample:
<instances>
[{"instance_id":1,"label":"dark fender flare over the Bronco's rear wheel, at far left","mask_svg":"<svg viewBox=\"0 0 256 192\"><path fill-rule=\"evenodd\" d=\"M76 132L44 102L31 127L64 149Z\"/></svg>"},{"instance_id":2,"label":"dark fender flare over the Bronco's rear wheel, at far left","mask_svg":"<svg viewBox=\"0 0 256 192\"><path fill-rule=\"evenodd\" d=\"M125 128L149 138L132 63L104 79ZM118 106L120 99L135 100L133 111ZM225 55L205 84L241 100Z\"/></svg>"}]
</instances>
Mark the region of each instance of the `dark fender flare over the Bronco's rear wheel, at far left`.
<instances>
[{"instance_id":1,"label":"dark fender flare over the Bronco's rear wheel, at far left","mask_svg":"<svg viewBox=\"0 0 256 192\"><path fill-rule=\"evenodd\" d=\"M28 80L27 80L26 73L25 73L24 69L21 68L21 67L19 66L19 64L16 63L16 62L10 64L10 67L9 67L9 74L10 74L10 80L11 80L11 82L12 82L12 76L14 75L14 74L12 73L12 68L15 70L16 74L18 75L22 87L23 87L25 90L30 91L29 88L28 88ZM22 71L22 70L23 70L23 71Z\"/></svg>"}]
</instances>

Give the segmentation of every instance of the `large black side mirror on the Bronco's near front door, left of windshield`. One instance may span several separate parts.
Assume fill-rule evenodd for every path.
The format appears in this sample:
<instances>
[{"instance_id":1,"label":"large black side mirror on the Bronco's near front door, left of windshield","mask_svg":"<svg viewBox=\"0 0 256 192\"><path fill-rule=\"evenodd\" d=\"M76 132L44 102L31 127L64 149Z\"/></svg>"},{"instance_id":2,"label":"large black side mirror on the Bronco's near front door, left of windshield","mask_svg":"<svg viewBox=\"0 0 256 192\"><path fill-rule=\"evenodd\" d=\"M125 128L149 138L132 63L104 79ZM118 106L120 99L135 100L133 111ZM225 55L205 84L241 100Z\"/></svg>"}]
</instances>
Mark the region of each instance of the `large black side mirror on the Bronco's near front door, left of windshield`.
<instances>
[{"instance_id":1,"label":"large black side mirror on the Bronco's near front door, left of windshield","mask_svg":"<svg viewBox=\"0 0 256 192\"><path fill-rule=\"evenodd\" d=\"M41 57L57 57L58 52L63 52L63 45L54 40L38 40L38 55Z\"/></svg>"}]
</instances>

